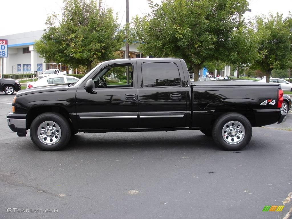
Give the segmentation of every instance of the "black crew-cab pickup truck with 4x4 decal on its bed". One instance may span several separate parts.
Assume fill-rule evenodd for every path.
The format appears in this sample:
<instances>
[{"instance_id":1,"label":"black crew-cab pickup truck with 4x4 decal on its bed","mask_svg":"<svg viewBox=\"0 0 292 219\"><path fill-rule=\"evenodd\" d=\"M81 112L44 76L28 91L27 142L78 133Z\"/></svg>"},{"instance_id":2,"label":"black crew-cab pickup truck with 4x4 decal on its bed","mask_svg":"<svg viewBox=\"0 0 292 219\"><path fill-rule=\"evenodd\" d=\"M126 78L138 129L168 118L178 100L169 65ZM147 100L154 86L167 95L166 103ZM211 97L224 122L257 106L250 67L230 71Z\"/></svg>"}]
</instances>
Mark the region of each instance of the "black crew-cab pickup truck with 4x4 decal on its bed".
<instances>
[{"instance_id":1,"label":"black crew-cab pickup truck with 4x4 decal on its bed","mask_svg":"<svg viewBox=\"0 0 292 219\"><path fill-rule=\"evenodd\" d=\"M128 84L105 80L124 72L130 76ZM19 91L7 121L18 136L30 129L42 150L65 147L77 132L175 130L201 130L223 149L240 150L250 141L252 127L286 119L282 102L277 84L191 84L182 59L119 59L100 63L75 84Z\"/></svg>"}]
</instances>

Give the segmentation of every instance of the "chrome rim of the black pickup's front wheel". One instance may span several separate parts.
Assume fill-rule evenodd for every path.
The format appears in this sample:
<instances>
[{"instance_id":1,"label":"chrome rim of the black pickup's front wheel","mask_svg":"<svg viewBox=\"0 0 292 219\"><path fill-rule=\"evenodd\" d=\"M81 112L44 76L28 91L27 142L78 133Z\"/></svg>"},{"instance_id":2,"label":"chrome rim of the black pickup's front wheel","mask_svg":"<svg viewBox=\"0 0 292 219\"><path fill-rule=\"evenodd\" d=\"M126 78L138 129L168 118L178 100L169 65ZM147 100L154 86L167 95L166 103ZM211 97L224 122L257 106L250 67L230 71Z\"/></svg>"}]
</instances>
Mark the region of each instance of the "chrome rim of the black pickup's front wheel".
<instances>
[{"instance_id":1,"label":"chrome rim of the black pickup's front wheel","mask_svg":"<svg viewBox=\"0 0 292 219\"><path fill-rule=\"evenodd\" d=\"M61 128L53 121L45 121L39 125L38 137L46 145L53 145L61 138Z\"/></svg>"}]
</instances>

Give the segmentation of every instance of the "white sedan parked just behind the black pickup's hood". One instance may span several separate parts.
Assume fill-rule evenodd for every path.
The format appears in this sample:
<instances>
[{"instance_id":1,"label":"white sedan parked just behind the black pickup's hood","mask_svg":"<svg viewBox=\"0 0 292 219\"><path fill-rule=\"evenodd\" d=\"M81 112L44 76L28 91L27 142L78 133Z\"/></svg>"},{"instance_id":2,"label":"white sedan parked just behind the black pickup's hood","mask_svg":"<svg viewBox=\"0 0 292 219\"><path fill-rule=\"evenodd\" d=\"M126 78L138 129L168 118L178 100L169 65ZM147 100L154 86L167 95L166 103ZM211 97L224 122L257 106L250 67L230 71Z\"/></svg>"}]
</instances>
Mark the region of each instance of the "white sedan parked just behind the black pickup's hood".
<instances>
[{"instance_id":1,"label":"white sedan parked just behind the black pickup's hood","mask_svg":"<svg viewBox=\"0 0 292 219\"><path fill-rule=\"evenodd\" d=\"M35 82L27 82L26 88L48 86L51 84L69 84L79 81L79 78L73 76L64 75L51 75Z\"/></svg>"}]
</instances>

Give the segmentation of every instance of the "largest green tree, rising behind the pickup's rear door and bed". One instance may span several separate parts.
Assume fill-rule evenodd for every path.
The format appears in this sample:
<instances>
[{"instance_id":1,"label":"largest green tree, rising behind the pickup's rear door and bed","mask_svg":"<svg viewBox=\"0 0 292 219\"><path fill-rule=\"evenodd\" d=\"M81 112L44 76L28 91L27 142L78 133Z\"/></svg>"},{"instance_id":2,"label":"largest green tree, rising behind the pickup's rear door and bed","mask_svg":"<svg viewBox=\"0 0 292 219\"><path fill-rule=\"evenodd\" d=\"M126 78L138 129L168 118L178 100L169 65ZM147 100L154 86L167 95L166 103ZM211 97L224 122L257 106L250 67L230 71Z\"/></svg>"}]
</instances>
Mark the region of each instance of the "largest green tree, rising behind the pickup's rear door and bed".
<instances>
[{"instance_id":1,"label":"largest green tree, rising behind the pickup's rear door and bed","mask_svg":"<svg viewBox=\"0 0 292 219\"><path fill-rule=\"evenodd\" d=\"M138 41L146 55L183 58L198 80L204 62L228 59L238 12L247 6L247 0L150 1L151 13L133 19L128 41Z\"/></svg>"}]
</instances>

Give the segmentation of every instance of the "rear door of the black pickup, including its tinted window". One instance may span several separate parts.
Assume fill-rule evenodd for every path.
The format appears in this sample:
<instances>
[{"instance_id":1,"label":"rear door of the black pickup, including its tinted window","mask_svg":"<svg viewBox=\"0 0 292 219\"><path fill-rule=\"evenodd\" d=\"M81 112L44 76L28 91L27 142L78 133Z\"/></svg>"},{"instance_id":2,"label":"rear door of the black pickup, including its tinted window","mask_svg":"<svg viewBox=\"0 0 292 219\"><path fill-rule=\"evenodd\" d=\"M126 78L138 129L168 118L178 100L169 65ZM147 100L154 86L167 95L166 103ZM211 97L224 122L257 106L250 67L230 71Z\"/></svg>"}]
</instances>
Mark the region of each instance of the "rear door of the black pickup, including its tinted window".
<instances>
[{"instance_id":1,"label":"rear door of the black pickup, including its tinted window","mask_svg":"<svg viewBox=\"0 0 292 219\"><path fill-rule=\"evenodd\" d=\"M187 95L179 59L137 59L138 127L186 126Z\"/></svg>"}]
</instances>

